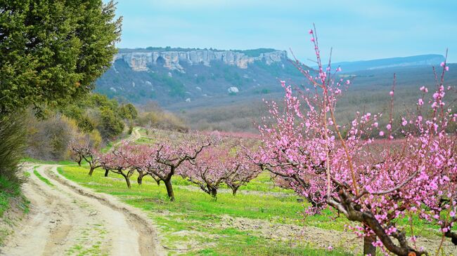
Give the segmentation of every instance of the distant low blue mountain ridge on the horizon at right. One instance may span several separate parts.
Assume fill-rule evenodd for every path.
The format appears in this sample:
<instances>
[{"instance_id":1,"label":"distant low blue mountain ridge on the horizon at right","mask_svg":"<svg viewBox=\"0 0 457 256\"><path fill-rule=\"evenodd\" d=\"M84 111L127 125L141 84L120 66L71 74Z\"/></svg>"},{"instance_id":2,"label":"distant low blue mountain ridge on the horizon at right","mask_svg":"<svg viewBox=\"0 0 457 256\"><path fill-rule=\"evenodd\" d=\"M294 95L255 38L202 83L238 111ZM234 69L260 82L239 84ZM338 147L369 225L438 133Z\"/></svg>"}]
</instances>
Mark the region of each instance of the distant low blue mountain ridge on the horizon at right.
<instances>
[{"instance_id":1,"label":"distant low blue mountain ridge on the horizon at right","mask_svg":"<svg viewBox=\"0 0 457 256\"><path fill-rule=\"evenodd\" d=\"M355 72L361 70L385 69L392 67L413 67L413 66L432 66L439 65L444 61L443 55L427 54L410 57L385 58L378 60L361 60L354 62L332 63L333 67L340 66L342 71Z\"/></svg>"}]
</instances>

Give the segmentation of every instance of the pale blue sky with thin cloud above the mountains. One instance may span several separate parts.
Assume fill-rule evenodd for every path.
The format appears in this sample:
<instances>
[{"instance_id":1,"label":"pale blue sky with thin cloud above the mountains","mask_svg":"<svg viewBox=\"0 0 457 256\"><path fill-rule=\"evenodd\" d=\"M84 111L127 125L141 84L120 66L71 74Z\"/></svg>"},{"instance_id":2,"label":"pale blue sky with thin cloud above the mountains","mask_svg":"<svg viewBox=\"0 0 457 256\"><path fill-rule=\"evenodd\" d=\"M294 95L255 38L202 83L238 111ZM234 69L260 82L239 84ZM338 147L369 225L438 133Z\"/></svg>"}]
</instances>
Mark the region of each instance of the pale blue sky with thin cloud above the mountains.
<instances>
[{"instance_id":1,"label":"pale blue sky with thin cloud above the mountains","mask_svg":"<svg viewBox=\"0 0 457 256\"><path fill-rule=\"evenodd\" d=\"M120 48L290 49L312 64L309 29L333 62L442 54L457 62L457 1L117 0Z\"/></svg>"}]
</instances>

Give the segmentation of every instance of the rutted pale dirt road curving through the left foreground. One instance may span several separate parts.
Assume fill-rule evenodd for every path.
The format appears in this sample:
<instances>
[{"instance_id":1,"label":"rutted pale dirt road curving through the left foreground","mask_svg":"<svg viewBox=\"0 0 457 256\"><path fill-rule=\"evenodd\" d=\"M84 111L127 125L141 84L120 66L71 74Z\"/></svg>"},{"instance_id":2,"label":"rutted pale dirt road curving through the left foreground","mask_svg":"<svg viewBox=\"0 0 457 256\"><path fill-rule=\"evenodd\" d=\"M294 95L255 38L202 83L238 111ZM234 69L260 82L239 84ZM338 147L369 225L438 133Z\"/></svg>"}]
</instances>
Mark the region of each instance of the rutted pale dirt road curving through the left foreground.
<instances>
[{"instance_id":1,"label":"rutted pale dirt road curving through the left foreground","mask_svg":"<svg viewBox=\"0 0 457 256\"><path fill-rule=\"evenodd\" d=\"M165 255L155 228L139 210L66 180L57 166L28 166L23 192L27 220L15 229L0 255Z\"/></svg>"}]
</instances>

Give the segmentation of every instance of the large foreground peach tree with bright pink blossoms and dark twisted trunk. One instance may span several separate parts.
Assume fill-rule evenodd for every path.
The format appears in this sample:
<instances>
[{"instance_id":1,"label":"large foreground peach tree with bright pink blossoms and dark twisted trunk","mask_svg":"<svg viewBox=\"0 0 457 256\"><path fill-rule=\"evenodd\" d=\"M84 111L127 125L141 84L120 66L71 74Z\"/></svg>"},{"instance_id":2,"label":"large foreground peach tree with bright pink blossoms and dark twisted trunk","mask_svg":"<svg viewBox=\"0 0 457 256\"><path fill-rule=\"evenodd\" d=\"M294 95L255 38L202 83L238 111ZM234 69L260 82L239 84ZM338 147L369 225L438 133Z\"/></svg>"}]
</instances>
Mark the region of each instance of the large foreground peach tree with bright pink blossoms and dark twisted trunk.
<instances>
[{"instance_id":1,"label":"large foreground peach tree with bright pink blossoms and dark twisted trunk","mask_svg":"<svg viewBox=\"0 0 457 256\"><path fill-rule=\"evenodd\" d=\"M357 112L343 136L335 109L342 86L350 82L337 76L341 69L332 69L330 61L323 67L316 30L309 33L317 73L298 61L295 65L314 90L294 94L282 82L284 111L269 102L269 118L275 123L259 126L263 143L256 163L306 197L311 202L307 213L330 206L359 223L349 229L364 238L365 255L374 255L375 246L386 255L427 254L416 247L415 236L410 245L404 230L397 227L396 220L412 214L436 222L443 239L456 243L452 231L457 201L456 114L444 102L446 90L451 89L444 85L446 62L440 77L434 72L437 84L430 100L424 96L427 88L421 88L424 94L416 113L393 119L394 78L387 126L379 126L379 114ZM394 125L399 128L393 130ZM375 136L386 140L377 142Z\"/></svg>"}]
</instances>

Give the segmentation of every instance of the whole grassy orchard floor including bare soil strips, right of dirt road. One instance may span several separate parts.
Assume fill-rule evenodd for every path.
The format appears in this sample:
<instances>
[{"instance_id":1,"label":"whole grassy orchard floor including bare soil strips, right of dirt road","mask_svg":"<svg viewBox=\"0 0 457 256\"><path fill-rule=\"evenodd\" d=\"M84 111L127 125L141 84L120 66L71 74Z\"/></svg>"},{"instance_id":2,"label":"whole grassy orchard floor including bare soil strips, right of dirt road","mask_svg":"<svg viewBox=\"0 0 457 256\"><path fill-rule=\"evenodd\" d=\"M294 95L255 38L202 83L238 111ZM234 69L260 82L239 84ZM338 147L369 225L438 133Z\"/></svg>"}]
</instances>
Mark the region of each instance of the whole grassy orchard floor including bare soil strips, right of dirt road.
<instances>
[{"instance_id":1,"label":"whole grassy orchard floor including bare soil strips, right of dirt road","mask_svg":"<svg viewBox=\"0 0 457 256\"><path fill-rule=\"evenodd\" d=\"M144 135L144 130L141 130ZM148 140L140 137L137 142ZM157 227L162 246L170 255L360 255L361 239L345 231L344 217L334 220L330 209L304 218L307 203L293 191L275 187L269 173L261 173L236 196L223 187L217 201L179 176L173 177L176 201L165 186L145 177L127 189L120 175L88 166L65 165L58 172L84 187L117 196L140 208ZM131 177L132 181L136 177ZM297 200L299 199L299 200ZM399 220L406 231L408 221ZM436 227L413 219L418 243L436 243ZM331 248L331 250L329 250Z\"/></svg>"}]
</instances>

